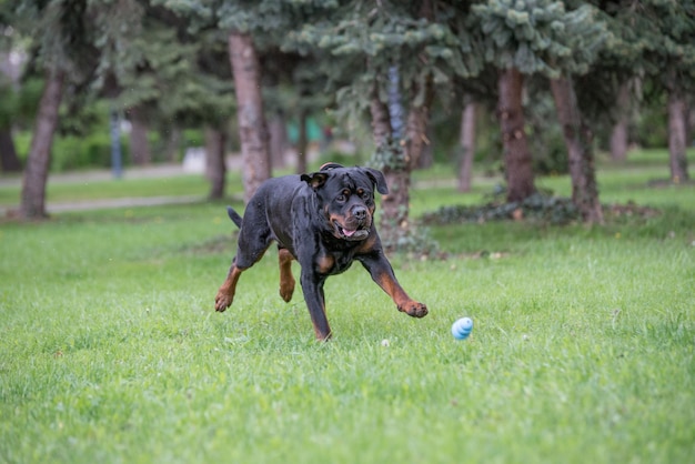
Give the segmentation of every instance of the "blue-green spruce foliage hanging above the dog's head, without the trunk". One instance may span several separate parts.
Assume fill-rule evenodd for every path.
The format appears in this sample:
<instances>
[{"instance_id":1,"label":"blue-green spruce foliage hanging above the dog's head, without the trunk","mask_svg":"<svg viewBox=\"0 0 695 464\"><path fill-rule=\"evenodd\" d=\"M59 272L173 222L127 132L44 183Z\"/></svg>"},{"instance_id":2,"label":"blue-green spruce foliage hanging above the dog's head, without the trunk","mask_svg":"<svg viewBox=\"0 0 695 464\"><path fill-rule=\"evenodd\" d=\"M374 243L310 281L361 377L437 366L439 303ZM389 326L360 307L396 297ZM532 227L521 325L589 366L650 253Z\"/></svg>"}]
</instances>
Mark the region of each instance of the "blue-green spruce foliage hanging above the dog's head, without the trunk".
<instances>
[{"instance_id":1,"label":"blue-green spruce foliage hanging above the dog's head, without the trunk","mask_svg":"<svg viewBox=\"0 0 695 464\"><path fill-rule=\"evenodd\" d=\"M350 125L361 121L376 87L386 101L387 69L397 67L407 105L424 103L431 80L450 101L454 78L471 78L483 67L469 33L467 3L442 3L431 17L407 2L344 2L326 8L301 29L288 33L283 49L315 53L329 90L335 92L338 114Z\"/></svg>"}]
</instances>

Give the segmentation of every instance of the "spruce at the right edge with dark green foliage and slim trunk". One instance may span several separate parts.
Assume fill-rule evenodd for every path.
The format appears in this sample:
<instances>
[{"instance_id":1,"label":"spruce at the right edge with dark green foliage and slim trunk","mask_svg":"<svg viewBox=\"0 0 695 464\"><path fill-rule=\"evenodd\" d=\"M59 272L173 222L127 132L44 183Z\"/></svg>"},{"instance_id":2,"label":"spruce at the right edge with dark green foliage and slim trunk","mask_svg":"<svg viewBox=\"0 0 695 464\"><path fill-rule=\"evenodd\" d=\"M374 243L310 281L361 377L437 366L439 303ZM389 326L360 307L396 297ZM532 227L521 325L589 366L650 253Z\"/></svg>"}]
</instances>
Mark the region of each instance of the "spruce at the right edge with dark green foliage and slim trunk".
<instances>
[{"instance_id":1,"label":"spruce at the right edge with dark green foliage and slim trunk","mask_svg":"<svg viewBox=\"0 0 695 464\"><path fill-rule=\"evenodd\" d=\"M647 99L666 101L671 180L689 179L685 147L686 98L695 90L695 1L596 1L613 32L611 47L602 52L590 75L602 75L603 88L612 81L638 79ZM608 69L612 75L597 71ZM588 85L597 88L596 81ZM613 92L618 94L617 89ZM664 98L665 95L665 98Z\"/></svg>"}]
</instances>

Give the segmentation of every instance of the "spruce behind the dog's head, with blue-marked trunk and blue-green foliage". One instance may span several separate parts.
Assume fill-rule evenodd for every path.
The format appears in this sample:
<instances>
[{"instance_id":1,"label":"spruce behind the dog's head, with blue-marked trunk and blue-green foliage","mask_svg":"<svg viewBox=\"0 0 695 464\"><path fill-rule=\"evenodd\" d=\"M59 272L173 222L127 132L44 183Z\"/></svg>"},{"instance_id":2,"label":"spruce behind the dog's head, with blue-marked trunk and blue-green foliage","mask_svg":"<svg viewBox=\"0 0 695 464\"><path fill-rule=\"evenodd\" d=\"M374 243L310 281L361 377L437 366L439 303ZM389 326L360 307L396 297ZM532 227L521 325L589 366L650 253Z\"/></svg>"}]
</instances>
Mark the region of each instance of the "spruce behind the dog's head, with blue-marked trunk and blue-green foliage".
<instances>
[{"instance_id":1,"label":"spruce behind the dog's head, with blue-marked trunk and blue-green foliage","mask_svg":"<svg viewBox=\"0 0 695 464\"><path fill-rule=\"evenodd\" d=\"M390 192L382 198L380 232L387 248L410 233L412 170L424 144L435 91L449 94L454 75L472 75L480 60L470 53L464 27L467 4L349 1L325 7L290 34L290 46L322 54L326 81L336 89L339 115L352 127L369 112L375 153ZM392 110L402 108L401 114Z\"/></svg>"}]
</instances>

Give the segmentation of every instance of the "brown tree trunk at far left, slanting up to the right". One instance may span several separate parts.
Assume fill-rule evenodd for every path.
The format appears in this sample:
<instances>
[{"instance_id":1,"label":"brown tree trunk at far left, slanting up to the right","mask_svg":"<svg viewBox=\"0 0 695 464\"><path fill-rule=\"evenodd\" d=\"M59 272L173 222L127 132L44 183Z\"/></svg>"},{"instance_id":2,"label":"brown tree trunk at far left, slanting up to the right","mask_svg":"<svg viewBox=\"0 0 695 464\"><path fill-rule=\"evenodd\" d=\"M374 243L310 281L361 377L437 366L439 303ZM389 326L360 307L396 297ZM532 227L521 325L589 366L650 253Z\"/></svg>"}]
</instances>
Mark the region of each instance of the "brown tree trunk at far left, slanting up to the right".
<instances>
[{"instance_id":1,"label":"brown tree trunk at far left, slanting up to the right","mask_svg":"<svg viewBox=\"0 0 695 464\"><path fill-rule=\"evenodd\" d=\"M51 145L58 125L58 110L62 98L66 73L56 69L47 72L43 94L39 103L37 124L31 139L22 183L22 219L46 218L46 183L51 164Z\"/></svg>"}]
</instances>

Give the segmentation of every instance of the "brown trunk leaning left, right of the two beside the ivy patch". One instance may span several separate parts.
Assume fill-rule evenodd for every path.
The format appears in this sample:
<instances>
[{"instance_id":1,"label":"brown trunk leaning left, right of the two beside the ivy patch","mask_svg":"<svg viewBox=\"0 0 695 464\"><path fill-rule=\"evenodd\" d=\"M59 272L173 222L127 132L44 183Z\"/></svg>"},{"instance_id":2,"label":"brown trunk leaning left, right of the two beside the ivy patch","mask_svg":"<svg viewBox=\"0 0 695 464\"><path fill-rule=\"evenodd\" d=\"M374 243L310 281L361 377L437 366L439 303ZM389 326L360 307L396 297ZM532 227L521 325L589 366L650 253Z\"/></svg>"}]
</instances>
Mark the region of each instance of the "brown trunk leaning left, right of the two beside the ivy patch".
<instances>
[{"instance_id":1,"label":"brown trunk leaning left, right of the two beside the ivy patch","mask_svg":"<svg viewBox=\"0 0 695 464\"><path fill-rule=\"evenodd\" d=\"M590 224L603 223L592 135L580 113L574 87L570 79L560 78L551 80L551 90L567 147L567 160L572 178L572 202L580 210L584 222Z\"/></svg>"}]
</instances>

